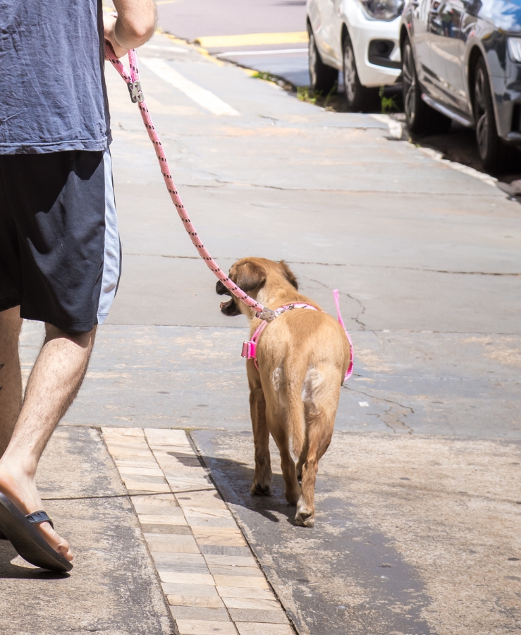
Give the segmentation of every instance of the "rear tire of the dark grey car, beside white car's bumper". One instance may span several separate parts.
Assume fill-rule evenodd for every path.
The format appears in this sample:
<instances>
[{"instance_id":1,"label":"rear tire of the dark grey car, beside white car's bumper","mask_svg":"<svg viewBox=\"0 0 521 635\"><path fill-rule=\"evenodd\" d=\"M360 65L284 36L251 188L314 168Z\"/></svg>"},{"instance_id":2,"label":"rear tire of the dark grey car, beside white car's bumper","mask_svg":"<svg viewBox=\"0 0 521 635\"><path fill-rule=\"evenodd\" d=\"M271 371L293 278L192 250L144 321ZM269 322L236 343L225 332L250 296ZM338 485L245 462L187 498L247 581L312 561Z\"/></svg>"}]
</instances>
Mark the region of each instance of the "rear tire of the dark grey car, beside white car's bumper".
<instances>
[{"instance_id":1,"label":"rear tire of the dark grey car, beside white car's bumper","mask_svg":"<svg viewBox=\"0 0 521 635\"><path fill-rule=\"evenodd\" d=\"M408 37L402 45L402 93L405 121L416 135L448 133L452 120L428 106L422 99L422 86L418 81L415 58Z\"/></svg>"}]
</instances>

